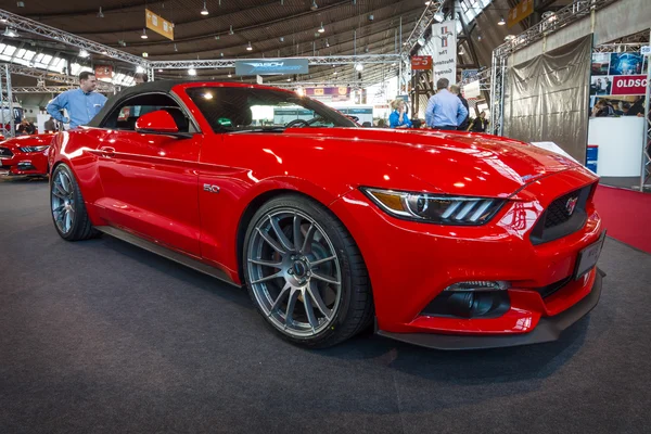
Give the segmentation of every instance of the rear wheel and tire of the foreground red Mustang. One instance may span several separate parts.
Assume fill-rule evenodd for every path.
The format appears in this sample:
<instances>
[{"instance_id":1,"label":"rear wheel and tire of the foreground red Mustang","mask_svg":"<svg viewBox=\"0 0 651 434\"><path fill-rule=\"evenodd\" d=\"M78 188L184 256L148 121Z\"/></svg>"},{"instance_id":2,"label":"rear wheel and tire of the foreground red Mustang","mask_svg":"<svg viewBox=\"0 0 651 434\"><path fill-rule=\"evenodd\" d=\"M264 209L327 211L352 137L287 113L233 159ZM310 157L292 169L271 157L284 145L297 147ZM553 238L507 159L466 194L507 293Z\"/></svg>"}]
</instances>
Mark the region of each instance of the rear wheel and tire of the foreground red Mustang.
<instances>
[{"instance_id":1,"label":"rear wheel and tire of the foreground red Mustang","mask_svg":"<svg viewBox=\"0 0 651 434\"><path fill-rule=\"evenodd\" d=\"M52 173L50 209L54 228L64 240L80 241L98 235L86 212L79 184L66 164L60 164Z\"/></svg>"}]
</instances>

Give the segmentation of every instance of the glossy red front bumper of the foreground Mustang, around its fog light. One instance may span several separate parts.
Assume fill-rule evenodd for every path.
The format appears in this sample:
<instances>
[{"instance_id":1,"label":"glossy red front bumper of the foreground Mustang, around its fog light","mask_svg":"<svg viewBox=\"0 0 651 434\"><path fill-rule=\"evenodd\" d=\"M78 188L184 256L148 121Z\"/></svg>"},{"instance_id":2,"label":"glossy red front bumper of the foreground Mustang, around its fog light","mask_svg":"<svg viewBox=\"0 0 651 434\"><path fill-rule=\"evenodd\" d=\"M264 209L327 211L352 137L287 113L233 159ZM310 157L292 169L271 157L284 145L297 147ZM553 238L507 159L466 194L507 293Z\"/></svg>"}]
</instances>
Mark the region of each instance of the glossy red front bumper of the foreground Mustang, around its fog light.
<instances>
[{"instance_id":1,"label":"glossy red front bumper of the foreground Mustang, around its fog light","mask_svg":"<svg viewBox=\"0 0 651 434\"><path fill-rule=\"evenodd\" d=\"M365 258L380 334L414 343L436 340L438 344L430 345L435 347L454 347L457 340L471 342L463 347L503 346L496 345L500 337L510 342L505 345L520 345L558 339L560 331L577 320L566 311L589 305L584 299L596 293L598 299L601 278L596 269L570 279L578 252L603 232L591 201L580 229L541 244L529 239L551 202L595 181L583 168L551 175L528 184L492 221L478 227L398 220L358 190L335 201L331 209L348 228ZM424 311L447 286L460 281L510 282L508 310L476 318ZM541 291L546 288L558 290L549 295ZM552 318L564 319L557 323L560 320ZM556 324L549 326L550 321ZM482 340L486 344L480 344Z\"/></svg>"}]
</instances>

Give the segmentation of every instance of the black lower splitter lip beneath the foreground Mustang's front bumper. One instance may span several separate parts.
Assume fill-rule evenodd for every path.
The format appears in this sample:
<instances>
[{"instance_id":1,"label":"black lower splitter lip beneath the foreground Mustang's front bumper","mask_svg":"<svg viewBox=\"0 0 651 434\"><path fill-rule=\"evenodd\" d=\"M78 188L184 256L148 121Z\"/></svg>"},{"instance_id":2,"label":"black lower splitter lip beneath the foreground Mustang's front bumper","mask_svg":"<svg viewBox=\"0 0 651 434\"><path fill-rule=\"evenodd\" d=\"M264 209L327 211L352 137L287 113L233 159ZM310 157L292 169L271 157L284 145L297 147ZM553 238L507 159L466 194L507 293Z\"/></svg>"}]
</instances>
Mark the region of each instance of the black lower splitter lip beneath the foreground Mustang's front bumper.
<instances>
[{"instance_id":1,"label":"black lower splitter lip beneath the foreground Mustang's front bumper","mask_svg":"<svg viewBox=\"0 0 651 434\"><path fill-rule=\"evenodd\" d=\"M595 283L587 296L554 317L541 318L540 321L538 321L538 326L529 333L509 335L392 333L379 330L376 323L375 333L384 337L391 337L408 344L435 349L499 348L557 341L565 329L585 317L592 308L595 308L595 306L597 306L597 303L599 303L599 297L601 296L601 281L605 273L598 268L592 272L596 273Z\"/></svg>"}]
</instances>

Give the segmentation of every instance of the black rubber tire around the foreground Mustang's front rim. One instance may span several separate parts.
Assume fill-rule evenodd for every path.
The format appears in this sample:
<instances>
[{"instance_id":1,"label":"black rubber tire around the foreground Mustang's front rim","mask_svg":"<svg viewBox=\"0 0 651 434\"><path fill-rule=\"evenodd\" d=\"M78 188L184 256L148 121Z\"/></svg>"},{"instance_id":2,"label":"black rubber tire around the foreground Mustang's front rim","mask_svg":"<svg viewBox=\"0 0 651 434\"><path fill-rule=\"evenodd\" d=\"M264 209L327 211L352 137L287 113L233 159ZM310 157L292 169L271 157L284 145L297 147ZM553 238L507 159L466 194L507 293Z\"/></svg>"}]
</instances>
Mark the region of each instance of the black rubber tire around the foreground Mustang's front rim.
<instances>
[{"instance_id":1,"label":"black rubber tire around the foreground Mustang's front rim","mask_svg":"<svg viewBox=\"0 0 651 434\"><path fill-rule=\"evenodd\" d=\"M310 337L297 337L277 329L264 314L253 294L248 278L248 244L256 224L277 208L294 207L314 218L330 238L337 251L342 271L342 299L329 328ZM266 202L253 216L246 230L242 264L248 295L265 322L284 340L310 348L326 348L336 345L362 330L373 319L373 296L371 282L363 258L353 237L344 225L323 205L303 195L285 194Z\"/></svg>"}]
</instances>

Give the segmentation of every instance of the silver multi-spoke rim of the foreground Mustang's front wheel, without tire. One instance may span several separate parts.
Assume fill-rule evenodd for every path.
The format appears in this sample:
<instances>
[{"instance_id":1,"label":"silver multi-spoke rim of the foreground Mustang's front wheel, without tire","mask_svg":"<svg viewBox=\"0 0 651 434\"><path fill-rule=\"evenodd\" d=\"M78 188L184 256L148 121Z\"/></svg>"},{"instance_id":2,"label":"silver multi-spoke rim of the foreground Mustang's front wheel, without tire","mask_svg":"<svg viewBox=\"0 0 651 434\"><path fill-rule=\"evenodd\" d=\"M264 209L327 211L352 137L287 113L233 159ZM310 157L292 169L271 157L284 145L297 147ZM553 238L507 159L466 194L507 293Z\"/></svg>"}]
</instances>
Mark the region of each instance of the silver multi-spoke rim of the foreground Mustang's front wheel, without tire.
<instances>
[{"instance_id":1,"label":"silver multi-spoke rim of the foreground Mustang's front wheel, without tire","mask_svg":"<svg viewBox=\"0 0 651 434\"><path fill-rule=\"evenodd\" d=\"M279 208L257 220L246 272L264 315L281 332L310 337L327 329L342 298L342 270L332 241L307 214Z\"/></svg>"}]
</instances>

